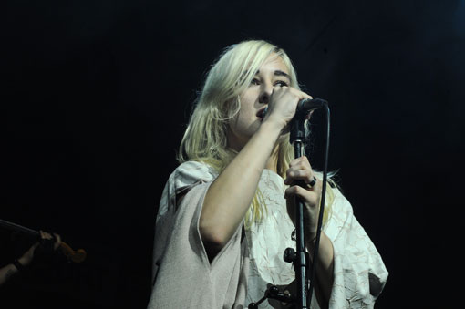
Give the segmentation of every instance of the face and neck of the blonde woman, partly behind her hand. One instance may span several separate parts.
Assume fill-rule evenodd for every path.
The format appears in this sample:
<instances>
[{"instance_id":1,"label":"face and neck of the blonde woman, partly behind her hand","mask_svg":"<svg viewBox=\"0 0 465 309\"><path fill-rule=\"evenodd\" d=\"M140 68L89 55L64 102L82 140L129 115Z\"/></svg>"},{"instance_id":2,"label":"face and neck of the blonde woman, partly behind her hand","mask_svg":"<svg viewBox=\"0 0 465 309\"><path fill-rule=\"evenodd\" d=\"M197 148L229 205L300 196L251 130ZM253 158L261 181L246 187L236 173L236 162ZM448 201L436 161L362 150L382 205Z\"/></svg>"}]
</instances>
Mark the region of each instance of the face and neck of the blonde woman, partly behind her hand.
<instances>
[{"instance_id":1,"label":"face and neck of the blonde woman, partly behind her hand","mask_svg":"<svg viewBox=\"0 0 465 309\"><path fill-rule=\"evenodd\" d=\"M230 121L228 146L240 151L260 127L262 113L274 88L291 85L289 69L281 57L272 54L256 72L241 95L241 109Z\"/></svg>"}]
</instances>

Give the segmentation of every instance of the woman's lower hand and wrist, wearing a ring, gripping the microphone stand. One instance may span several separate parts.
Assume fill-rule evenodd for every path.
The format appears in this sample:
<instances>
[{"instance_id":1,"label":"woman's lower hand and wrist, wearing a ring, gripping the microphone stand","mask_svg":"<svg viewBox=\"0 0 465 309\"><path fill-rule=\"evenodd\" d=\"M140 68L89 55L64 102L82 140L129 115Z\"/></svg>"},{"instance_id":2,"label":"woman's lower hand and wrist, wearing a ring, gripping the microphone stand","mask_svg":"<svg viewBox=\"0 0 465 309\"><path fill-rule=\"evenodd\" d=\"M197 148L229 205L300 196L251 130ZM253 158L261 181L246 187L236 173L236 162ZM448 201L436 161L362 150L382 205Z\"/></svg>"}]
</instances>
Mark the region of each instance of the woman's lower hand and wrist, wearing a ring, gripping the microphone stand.
<instances>
[{"instance_id":1,"label":"woman's lower hand and wrist, wearing a ring, gripping the microphone stand","mask_svg":"<svg viewBox=\"0 0 465 309\"><path fill-rule=\"evenodd\" d=\"M298 181L301 181L305 187L296 185ZM312 183L314 184L312 185ZM303 156L289 164L284 184L290 186L286 189L284 197L287 204L287 213L289 213L294 225L296 207L294 197L300 198L304 202L305 238L307 242L312 242L316 237L318 214L320 212L321 180L316 180L310 162Z\"/></svg>"}]
</instances>

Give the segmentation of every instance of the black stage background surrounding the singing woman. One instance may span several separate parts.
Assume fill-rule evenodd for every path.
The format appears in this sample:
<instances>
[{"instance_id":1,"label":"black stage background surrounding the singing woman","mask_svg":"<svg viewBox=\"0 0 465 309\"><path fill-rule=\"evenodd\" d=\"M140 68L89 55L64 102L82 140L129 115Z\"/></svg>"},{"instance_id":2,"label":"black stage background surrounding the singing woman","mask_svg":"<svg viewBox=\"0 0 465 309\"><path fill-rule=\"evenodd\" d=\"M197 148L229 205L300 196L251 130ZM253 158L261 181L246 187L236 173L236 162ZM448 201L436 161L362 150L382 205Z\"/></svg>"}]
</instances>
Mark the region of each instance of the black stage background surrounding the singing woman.
<instances>
[{"instance_id":1,"label":"black stage background surrounding the singing woman","mask_svg":"<svg viewBox=\"0 0 465 309\"><path fill-rule=\"evenodd\" d=\"M246 38L284 47L305 90L331 104L330 168L390 273L377 308L454 307L465 1L2 6L0 218L88 252L10 283L2 308L145 308L191 102L221 49ZM27 248L0 235L4 263Z\"/></svg>"}]
</instances>

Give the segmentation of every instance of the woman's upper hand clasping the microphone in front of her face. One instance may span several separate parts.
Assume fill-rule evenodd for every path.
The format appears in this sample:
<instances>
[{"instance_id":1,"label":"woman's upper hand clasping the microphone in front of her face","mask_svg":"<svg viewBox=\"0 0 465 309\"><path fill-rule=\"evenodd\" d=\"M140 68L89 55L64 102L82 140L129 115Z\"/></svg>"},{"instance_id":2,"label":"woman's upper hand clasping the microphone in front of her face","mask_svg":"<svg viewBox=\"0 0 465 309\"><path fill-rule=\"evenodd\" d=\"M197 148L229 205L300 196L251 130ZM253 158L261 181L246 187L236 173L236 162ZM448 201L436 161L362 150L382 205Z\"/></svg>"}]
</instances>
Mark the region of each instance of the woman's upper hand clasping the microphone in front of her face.
<instances>
[{"instance_id":1,"label":"woman's upper hand clasping the microphone in front of her face","mask_svg":"<svg viewBox=\"0 0 465 309\"><path fill-rule=\"evenodd\" d=\"M305 98L312 98L305 92L292 87L274 88L268 103L264 121L275 121L285 128L294 118L297 103ZM285 129L288 130L288 129Z\"/></svg>"}]
</instances>

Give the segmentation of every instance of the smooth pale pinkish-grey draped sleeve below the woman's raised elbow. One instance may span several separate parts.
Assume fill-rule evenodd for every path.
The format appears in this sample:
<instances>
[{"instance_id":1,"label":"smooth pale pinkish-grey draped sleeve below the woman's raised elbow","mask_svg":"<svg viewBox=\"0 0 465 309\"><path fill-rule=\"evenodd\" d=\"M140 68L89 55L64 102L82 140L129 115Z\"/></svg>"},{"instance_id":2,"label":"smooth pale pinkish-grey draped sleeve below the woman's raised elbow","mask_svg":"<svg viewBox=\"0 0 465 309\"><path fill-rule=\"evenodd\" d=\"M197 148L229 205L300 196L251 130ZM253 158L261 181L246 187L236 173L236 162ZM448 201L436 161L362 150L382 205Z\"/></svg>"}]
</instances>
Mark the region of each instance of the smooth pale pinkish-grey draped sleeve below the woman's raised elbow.
<instances>
[{"instance_id":1,"label":"smooth pale pinkish-grey draped sleeve below the woman's raised elbow","mask_svg":"<svg viewBox=\"0 0 465 309\"><path fill-rule=\"evenodd\" d=\"M174 175L180 178L182 170ZM199 233L199 218L212 178L195 180L187 192L180 183L170 178L162 198L172 202L162 205L157 220L148 308L241 309L249 265L247 244L241 242L242 227L210 263ZM176 208L175 196L180 191L186 193Z\"/></svg>"}]
</instances>

